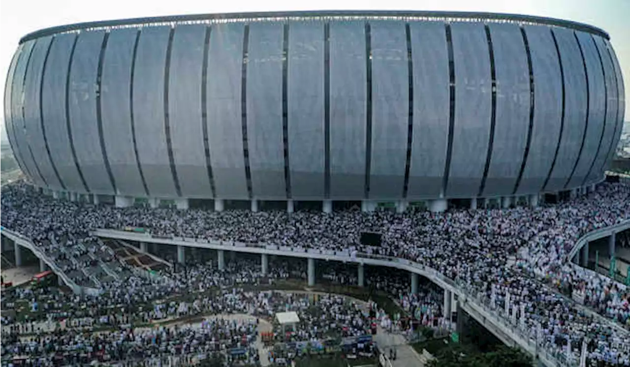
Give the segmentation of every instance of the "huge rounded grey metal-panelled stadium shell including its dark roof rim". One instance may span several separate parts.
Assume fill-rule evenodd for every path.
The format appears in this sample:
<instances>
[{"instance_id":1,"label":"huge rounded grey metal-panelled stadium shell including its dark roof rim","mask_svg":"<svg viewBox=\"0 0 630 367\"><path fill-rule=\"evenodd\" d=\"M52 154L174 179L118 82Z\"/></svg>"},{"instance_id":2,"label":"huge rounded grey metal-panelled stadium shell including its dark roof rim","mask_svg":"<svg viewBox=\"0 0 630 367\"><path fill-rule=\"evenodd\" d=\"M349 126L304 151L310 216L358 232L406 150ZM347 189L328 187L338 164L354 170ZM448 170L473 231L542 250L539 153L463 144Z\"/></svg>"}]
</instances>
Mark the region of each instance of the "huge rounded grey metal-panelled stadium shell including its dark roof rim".
<instances>
[{"instance_id":1,"label":"huge rounded grey metal-panelled stadium shell including its dark roof rim","mask_svg":"<svg viewBox=\"0 0 630 367\"><path fill-rule=\"evenodd\" d=\"M442 210L602 181L624 84L607 33L570 21L241 13L36 31L4 102L21 169L54 195Z\"/></svg>"}]
</instances>

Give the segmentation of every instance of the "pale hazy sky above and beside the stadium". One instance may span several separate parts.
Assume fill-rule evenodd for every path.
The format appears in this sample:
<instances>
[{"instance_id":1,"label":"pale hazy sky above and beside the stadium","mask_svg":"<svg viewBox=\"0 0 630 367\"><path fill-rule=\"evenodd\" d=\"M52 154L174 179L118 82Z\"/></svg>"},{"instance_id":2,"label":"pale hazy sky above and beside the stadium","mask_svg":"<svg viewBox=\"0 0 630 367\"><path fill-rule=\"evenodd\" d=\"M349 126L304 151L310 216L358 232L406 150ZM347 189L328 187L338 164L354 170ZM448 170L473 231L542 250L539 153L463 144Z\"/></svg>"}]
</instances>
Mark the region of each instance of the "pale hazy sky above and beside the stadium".
<instances>
[{"instance_id":1,"label":"pale hazy sky above and beside the stadium","mask_svg":"<svg viewBox=\"0 0 630 367\"><path fill-rule=\"evenodd\" d=\"M610 34L626 86L630 84L630 0L13 0L3 1L0 11L0 94L4 93L6 72L18 40L40 28L142 16L322 9L490 11L579 21ZM3 102L4 99L0 106ZM629 106L630 98L627 98L626 111L630 110ZM0 111L0 115L4 115L4 109ZM626 116L630 116L629 113ZM4 120L4 116L0 120ZM4 139L6 132L0 121L0 140Z\"/></svg>"}]
</instances>

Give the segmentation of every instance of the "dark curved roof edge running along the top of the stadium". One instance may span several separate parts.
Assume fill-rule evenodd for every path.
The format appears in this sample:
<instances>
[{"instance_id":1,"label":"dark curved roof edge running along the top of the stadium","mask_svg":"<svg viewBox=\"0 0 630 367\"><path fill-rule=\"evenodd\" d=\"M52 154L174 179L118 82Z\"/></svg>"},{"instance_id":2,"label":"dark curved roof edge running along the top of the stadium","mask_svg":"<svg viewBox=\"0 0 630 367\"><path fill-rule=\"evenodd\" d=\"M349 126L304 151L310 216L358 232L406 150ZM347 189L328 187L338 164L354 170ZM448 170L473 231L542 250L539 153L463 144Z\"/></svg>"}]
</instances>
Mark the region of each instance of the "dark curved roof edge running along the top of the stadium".
<instances>
[{"instance_id":1,"label":"dark curved roof edge running along the top of the stadium","mask_svg":"<svg viewBox=\"0 0 630 367\"><path fill-rule=\"evenodd\" d=\"M610 36L604 30L595 26L578 23L575 21L561 20L557 18L546 18L542 16L529 16L522 14L507 13L484 13L471 11L404 11L404 10L323 10L323 11L263 11L251 13L218 13L218 14L188 14L173 16L153 16L147 18L129 18L122 20L91 21L84 23L74 23L71 25L54 26L43 30L33 31L20 39L24 43L35 38L46 37L56 33L83 30L87 28L106 28L112 26L132 26L146 25L147 23L178 23L186 21L212 21L212 20L240 20L252 18L293 18L293 17L332 17L332 16L365 16L365 17L435 17L435 18L471 18L487 20L507 20L524 23L537 23L540 25L559 26L571 28L573 30L585 31L604 37L607 40Z\"/></svg>"}]
</instances>

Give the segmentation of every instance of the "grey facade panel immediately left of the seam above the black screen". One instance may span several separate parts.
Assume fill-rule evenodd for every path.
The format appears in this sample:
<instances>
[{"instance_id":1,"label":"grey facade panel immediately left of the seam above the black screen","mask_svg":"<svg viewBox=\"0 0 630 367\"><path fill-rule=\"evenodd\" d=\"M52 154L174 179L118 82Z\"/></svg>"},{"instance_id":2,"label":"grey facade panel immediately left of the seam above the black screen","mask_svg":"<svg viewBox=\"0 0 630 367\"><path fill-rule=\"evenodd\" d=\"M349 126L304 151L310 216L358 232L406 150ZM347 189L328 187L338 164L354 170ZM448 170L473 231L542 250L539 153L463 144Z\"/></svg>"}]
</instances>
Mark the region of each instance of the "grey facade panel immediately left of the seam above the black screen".
<instances>
[{"instance_id":1,"label":"grey facade panel immediately left of the seam above the black screen","mask_svg":"<svg viewBox=\"0 0 630 367\"><path fill-rule=\"evenodd\" d=\"M365 23L330 23L330 198L365 196Z\"/></svg>"}]
</instances>

